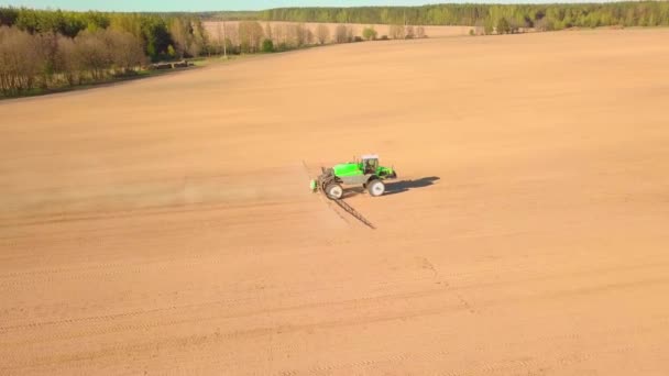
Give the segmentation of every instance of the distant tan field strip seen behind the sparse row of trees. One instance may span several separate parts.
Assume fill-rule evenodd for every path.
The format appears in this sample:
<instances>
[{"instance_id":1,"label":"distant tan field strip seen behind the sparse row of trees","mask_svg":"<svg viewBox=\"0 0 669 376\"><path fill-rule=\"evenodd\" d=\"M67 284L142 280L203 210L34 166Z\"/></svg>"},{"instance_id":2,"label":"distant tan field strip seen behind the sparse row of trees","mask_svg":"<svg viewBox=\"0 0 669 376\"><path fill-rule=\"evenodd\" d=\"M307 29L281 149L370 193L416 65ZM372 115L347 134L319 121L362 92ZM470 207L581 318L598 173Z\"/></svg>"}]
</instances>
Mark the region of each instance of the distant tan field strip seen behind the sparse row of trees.
<instances>
[{"instance_id":1,"label":"distant tan field strip seen behind the sparse row of trees","mask_svg":"<svg viewBox=\"0 0 669 376\"><path fill-rule=\"evenodd\" d=\"M277 21L262 22L262 21L260 21L260 24L263 26L263 29L266 29L267 24L270 24L271 26L274 26L277 24L281 25L281 24L296 24L296 23L297 22L277 22ZM219 30L218 25L219 24L222 24L222 22L216 22L216 21L205 22L205 27L207 29L209 34L215 40L218 38L218 30ZM226 21L227 27L237 29L238 24L239 24L238 21ZM319 23L305 22L304 24L312 33L315 33L316 27L318 26ZM339 25L339 23L323 23L323 24L330 29L330 35L331 36L334 35L334 29L337 27L337 25ZM363 29L370 26L368 24L355 24L355 23L347 23L346 25L351 26L351 29L353 31L353 35L358 35L358 36L362 36ZM374 26L374 30L376 30L376 32L379 33L379 37L381 37L382 35L390 35L390 32L388 32L390 25L374 24L371 26ZM414 27L417 27L417 26L418 25L414 25ZM425 34L428 37L468 35L470 30L475 29L473 26L429 26L429 25L423 26L423 27L425 27Z\"/></svg>"}]
</instances>

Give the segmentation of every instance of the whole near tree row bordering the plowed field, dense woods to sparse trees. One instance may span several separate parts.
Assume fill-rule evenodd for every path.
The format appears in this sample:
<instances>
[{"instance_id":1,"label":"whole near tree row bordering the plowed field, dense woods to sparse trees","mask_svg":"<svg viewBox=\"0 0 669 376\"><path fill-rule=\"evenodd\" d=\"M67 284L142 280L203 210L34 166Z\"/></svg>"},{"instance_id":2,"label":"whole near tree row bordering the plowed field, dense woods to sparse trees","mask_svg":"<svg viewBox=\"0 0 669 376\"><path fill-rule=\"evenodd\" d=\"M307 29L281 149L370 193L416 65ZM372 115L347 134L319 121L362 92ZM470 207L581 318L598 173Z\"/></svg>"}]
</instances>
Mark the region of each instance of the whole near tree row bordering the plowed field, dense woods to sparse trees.
<instances>
[{"instance_id":1,"label":"whole near tree row bordering the plowed field, dense woods to sparse trees","mask_svg":"<svg viewBox=\"0 0 669 376\"><path fill-rule=\"evenodd\" d=\"M252 13L240 12L238 19ZM254 14L254 13L253 13ZM282 52L376 40L368 26L239 21L206 30L197 13L107 13L0 8L0 93L18 96L136 75L150 62L216 54ZM391 37L423 37L394 25ZM387 38L383 35L381 38Z\"/></svg>"}]
</instances>

